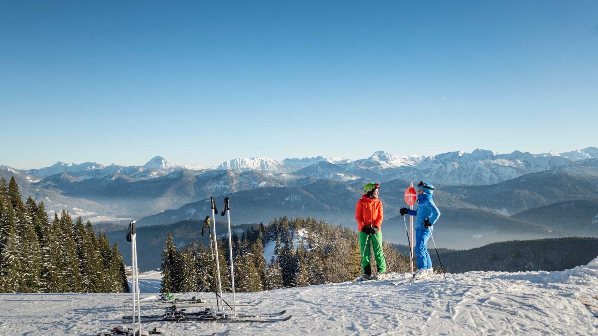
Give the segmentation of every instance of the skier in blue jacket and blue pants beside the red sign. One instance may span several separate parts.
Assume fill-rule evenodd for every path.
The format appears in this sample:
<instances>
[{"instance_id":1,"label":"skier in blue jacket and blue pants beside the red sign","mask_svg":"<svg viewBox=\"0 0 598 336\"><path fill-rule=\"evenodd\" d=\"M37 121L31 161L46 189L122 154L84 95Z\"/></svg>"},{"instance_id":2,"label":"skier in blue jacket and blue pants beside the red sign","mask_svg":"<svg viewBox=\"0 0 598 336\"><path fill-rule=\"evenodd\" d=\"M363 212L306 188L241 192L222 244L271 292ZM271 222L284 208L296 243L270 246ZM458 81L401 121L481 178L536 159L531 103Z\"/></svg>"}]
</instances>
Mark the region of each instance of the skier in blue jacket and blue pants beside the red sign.
<instances>
[{"instance_id":1,"label":"skier in blue jacket and blue pants beside the red sign","mask_svg":"<svg viewBox=\"0 0 598 336\"><path fill-rule=\"evenodd\" d=\"M432 200L434 185L422 181L417 184L417 210L401 207L401 216L416 216L415 237L416 243L413 246L417 255L417 271L414 277L425 277L432 275L432 259L428 253L428 239L434 231L434 223L440 217L440 211Z\"/></svg>"}]
</instances>

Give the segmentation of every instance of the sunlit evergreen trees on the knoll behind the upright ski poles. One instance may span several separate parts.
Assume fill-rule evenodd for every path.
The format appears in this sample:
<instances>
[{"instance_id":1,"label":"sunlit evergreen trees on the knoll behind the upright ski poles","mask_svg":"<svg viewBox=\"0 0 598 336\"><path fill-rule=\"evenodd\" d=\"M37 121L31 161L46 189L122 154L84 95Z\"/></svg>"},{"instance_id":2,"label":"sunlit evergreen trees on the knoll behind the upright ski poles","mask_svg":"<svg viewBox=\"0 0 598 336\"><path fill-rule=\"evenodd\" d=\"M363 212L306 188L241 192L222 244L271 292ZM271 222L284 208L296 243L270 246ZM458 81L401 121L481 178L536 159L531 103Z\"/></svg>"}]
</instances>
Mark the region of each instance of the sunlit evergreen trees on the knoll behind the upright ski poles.
<instances>
[{"instance_id":1,"label":"sunlit evergreen trees on the knoll behind the upright ski poles","mask_svg":"<svg viewBox=\"0 0 598 336\"><path fill-rule=\"evenodd\" d=\"M268 263L264 259L266 245L274 245ZM408 257L386 243L383 246L390 270L409 271ZM197 273L172 250L178 251ZM218 239L218 253L222 290L230 291L227 241ZM167 234L162 259L162 292L209 292L215 288L216 273L209 246L191 243L177 250L172 236ZM260 223L249 228L240 238L233 234L233 260L235 289L239 292L344 282L362 271L357 233L313 218L275 218L268 225ZM375 258L371 261L375 270Z\"/></svg>"}]
</instances>

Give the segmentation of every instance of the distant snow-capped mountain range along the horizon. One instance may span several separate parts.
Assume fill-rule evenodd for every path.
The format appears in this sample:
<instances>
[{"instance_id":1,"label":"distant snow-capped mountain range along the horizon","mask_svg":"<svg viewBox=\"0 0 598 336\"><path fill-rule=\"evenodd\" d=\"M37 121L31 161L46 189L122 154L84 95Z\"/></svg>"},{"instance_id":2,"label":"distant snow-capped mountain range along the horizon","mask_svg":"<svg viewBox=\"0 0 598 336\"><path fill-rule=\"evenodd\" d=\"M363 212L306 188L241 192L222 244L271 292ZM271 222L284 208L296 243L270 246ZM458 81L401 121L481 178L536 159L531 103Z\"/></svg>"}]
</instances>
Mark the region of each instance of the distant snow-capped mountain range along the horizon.
<instances>
[{"instance_id":1,"label":"distant snow-capped mountain range along the horizon","mask_svg":"<svg viewBox=\"0 0 598 336\"><path fill-rule=\"evenodd\" d=\"M590 160L590 161L588 161ZM368 158L347 160L338 157L304 157L274 160L267 157L235 158L218 166L181 166L164 157L154 157L143 166L103 166L95 162L81 164L57 162L41 169L19 170L28 174L30 181L35 176L48 176L68 173L80 179L106 178L119 175L133 179L152 179L169 175L179 170L234 170L248 172L259 170L269 173L292 173L310 178L354 181L372 179L378 182L393 179L410 181L427 180L445 185L489 185L517 178L527 173L545 170L566 170L587 173L584 161L598 160L598 148L588 147L570 152L548 152L530 154L514 151L499 154L494 151L475 149L471 153L456 151L434 156L405 155L395 156L385 151L374 152ZM596 165L589 165L595 167ZM12 169L2 166L0 169ZM15 170L15 169L12 169Z\"/></svg>"}]
</instances>

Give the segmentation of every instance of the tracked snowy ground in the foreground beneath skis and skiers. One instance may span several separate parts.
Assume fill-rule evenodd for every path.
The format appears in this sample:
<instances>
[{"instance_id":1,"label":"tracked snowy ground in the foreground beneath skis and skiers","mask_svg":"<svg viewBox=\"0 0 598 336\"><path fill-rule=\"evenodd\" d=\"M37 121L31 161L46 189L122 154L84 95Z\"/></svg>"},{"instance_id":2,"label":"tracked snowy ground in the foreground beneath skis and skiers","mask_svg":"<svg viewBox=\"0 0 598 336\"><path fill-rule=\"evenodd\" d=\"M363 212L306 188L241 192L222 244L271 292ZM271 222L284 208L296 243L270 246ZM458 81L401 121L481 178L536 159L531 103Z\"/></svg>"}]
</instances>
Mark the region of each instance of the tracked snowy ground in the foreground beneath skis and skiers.
<instances>
[{"instance_id":1,"label":"tracked snowy ground in the foreground beneath skis and skiers","mask_svg":"<svg viewBox=\"0 0 598 336\"><path fill-rule=\"evenodd\" d=\"M148 274L148 279L155 274ZM156 279L153 279L156 280ZM142 280L143 281L143 280ZM237 301L262 301L240 311L292 314L269 325L148 323L168 335L588 335L598 332L598 308L578 297L598 294L598 258L562 272L469 272L390 286L340 283L237 294ZM142 294L149 297L151 294ZM192 293L178 295L191 297ZM199 294L213 301L213 294ZM3 294L1 335L95 335L130 314L127 294ZM231 301L231 295L225 294ZM598 305L597 305L598 306ZM201 308L188 308L190 311ZM163 307L142 303L142 313Z\"/></svg>"}]
</instances>

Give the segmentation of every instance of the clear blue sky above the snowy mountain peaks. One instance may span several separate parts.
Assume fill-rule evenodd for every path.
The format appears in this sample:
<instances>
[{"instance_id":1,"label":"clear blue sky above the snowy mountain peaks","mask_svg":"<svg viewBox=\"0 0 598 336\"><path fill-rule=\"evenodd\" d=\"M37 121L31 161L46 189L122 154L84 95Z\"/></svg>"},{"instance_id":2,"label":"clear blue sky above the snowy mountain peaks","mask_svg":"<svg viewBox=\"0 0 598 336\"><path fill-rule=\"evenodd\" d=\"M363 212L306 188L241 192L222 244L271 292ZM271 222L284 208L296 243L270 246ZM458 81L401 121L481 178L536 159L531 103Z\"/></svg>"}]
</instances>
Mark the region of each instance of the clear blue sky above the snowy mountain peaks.
<instances>
[{"instance_id":1,"label":"clear blue sky above the snowy mountain peaks","mask_svg":"<svg viewBox=\"0 0 598 336\"><path fill-rule=\"evenodd\" d=\"M0 164L598 146L597 1L0 1Z\"/></svg>"}]
</instances>

